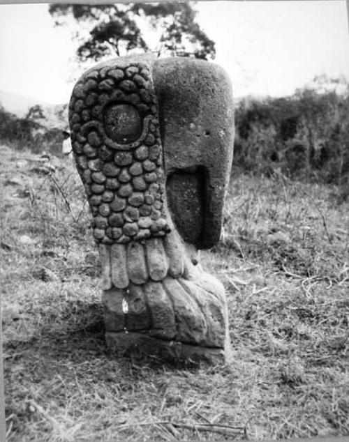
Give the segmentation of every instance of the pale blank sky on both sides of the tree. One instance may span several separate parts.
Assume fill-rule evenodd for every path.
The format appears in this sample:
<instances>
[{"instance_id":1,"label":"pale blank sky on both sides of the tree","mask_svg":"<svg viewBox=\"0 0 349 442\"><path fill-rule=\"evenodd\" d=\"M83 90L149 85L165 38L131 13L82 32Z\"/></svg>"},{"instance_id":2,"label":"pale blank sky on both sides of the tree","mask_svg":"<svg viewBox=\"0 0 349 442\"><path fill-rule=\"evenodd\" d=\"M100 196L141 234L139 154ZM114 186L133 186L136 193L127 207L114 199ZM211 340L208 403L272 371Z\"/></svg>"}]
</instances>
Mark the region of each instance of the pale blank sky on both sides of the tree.
<instances>
[{"instance_id":1,"label":"pale blank sky on both sides of the tree","mask_svg":"<svg viewBox=\"0 0 349 442\"><path fill-rule=\"evenodd\" d=\"M235 96L285 96L315 75L349 78L345 0L205 1L197 20L216 42L215 62ZM54 27L48 5L0 5L0 90L38 102L68 102L75 43ZM73 75L72 75L73 73Z\"/></svg>"}]
</instances>

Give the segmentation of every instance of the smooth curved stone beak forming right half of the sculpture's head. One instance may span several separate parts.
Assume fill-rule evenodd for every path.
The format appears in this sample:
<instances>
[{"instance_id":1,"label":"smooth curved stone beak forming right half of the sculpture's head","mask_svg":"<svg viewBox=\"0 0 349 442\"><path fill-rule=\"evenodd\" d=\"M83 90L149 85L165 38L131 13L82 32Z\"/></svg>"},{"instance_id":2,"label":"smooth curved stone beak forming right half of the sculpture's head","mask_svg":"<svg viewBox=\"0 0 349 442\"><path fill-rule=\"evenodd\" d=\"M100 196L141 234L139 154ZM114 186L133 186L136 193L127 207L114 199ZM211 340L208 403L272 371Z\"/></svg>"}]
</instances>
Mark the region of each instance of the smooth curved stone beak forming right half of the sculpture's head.
<instances>
[{"instance_id":1,"label":"smooth curved stone beak forming right half of the sculpture's head","mask_svg":"<svg viewBox=\"0 0 349 442\"><path fill-rule=\"evenodd\" d=\"M173 58L155 61L153 81L165 172L167 176L185 172L202 181L200 199L195 201L188 193L184 195L184 211L172 210L169 204L172 220L186 241L199 249L210 248L221 234L223 201L232 164L234 115L230 79L214 63ZM175 186L167 192L174 194L169 195L169 200L181 200ZM188 203L196 208L185 214ZM200 212L203 219L198 234L195 218Z\"/></svg>"}]
</instances>

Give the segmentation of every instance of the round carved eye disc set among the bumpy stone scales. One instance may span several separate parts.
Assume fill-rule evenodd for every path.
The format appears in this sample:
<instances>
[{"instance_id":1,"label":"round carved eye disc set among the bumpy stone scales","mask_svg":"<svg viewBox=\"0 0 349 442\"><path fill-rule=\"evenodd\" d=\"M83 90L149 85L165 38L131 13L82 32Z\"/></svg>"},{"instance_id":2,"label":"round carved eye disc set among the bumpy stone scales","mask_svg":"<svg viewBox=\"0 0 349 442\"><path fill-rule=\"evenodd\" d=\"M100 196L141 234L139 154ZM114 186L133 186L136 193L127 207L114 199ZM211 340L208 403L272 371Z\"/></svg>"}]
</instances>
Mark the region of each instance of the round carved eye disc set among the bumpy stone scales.
<instances>
[{"instance_id":1,"label":"round carved eye disc set among the bumpy stone scales","mask_svg":"<svg viewBox=\"0 0 349 442\"><path fill-rule=\"evenodd\" d=\"M135 142L142 134L142 119L132 105L109 105L103 123L107 136L118 144Z\"/></svg>"}]
</instances>

